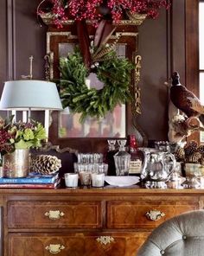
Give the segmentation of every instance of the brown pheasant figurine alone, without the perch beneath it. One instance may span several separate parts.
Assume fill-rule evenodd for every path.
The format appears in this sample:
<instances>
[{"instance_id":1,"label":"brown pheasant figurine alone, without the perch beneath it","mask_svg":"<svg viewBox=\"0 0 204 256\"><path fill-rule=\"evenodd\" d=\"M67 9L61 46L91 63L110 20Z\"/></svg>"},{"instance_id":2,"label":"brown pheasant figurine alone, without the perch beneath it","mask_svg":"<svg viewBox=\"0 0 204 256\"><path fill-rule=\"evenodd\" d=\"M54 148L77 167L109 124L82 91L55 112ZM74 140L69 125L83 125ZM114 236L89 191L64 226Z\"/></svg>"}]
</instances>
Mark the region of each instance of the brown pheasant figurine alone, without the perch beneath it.
<instances>
[{"instance_id":1,"label":"brown pheasant figurine alone, without the perch beneath it","mask_svg":"<svg viewBox=\"0 0 204 256\"><path fill-rule=\"evenodd\" d=\"M187 118L197 117L204 125L204 106L202 106L200 99L186 86L182 86L178 72L172 74L171 80L170 99L172 103L184 112Z\"/></svg>"}]
</instances>

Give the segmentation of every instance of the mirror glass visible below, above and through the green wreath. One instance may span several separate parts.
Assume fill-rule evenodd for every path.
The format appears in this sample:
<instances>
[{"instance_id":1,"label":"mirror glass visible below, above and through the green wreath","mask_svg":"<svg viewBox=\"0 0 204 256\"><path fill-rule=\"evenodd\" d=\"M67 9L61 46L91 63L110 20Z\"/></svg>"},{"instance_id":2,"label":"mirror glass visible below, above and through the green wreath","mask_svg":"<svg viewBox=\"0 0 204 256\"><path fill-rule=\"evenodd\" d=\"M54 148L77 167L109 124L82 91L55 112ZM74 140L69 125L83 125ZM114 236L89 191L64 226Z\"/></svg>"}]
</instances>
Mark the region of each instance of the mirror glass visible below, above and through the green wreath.
<instances>
[{"instance_id":1,"label":"mirror glass visible below, above and through the green wreath","mask_svg":"<svg viewBox=\"0 0 204 256\"><path fill-rule=\"evenodd\" d=\"M75 44L72 42L59 43L59 56L67 57L72 54ZM118 57L125 58L126 44L118 44L116 52ZM89 76L89 85L96 89L103 88L103 83L95 75ZM96 87L98 86L98 87ZM72 113L65 109L59 113L59 138L124 138L125 105L116 106L112 112L107 112L104 118L87 117L80 122L80 113Z\"/></svg>"}]
</instances>

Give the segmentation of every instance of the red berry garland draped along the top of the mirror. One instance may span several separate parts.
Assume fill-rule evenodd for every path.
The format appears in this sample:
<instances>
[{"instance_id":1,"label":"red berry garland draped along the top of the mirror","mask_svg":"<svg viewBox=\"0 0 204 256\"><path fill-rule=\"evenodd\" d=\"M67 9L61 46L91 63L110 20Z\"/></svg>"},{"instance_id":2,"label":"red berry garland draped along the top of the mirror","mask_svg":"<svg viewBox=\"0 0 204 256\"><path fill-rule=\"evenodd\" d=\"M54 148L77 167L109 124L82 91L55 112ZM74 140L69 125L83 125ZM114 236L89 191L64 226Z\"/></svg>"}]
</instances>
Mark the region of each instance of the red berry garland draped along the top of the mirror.
<instances>
[{"instance_id":1,"label":"red berry garland draped along the top of the mirror","mask_svg":"<svg viewBox=\"0 0 204 256\"><path fill-rule=\"evenodd\" d=\"M42 0L37 14L50 12L59 28L68 19L89 20L97 26L103 18L118 23L129 13L155 19L161 8L169 9L170 3L171 0Z\"/></svg>"}]
</instances>

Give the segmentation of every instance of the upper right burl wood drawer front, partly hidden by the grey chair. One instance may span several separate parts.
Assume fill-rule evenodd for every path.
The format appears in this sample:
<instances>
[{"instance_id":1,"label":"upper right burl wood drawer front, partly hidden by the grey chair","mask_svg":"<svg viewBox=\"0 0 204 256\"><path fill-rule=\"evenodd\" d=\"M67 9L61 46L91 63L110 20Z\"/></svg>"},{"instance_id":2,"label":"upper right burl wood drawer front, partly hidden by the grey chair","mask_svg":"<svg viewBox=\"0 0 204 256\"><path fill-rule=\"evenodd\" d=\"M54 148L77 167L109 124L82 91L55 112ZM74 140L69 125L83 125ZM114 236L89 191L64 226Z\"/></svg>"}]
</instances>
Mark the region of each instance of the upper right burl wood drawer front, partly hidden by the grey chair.
<instances>
[{"instance_id":1,"label":"upper right burl wood drawer front, partly hidden by the grey chair","mask_svg":"<svg viewBox=\"0 0 204 256\"><path fill-rule=\"evenodd\" d=\"M155 228L163 221L198 209L198 202L108 202L108 228Z\"/></svg>"}]
</instances>

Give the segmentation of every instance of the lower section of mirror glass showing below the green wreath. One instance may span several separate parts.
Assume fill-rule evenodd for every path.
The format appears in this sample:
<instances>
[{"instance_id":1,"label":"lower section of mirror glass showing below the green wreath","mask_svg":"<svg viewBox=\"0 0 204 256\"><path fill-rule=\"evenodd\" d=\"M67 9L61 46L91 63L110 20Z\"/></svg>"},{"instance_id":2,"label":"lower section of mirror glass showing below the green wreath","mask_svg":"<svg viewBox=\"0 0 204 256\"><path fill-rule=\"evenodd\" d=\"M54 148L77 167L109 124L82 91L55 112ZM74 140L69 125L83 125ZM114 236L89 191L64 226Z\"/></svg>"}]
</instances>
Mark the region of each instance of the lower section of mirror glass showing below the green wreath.
<instances>
[{"instance_id":1,"label":"lower section of mirror glass showing below the green wreath","mask_svg":"<svg viewBox=\"0 0 204 256\"><path fill-rule=\"evenodd\" d=\"M88 117L80 123L80 113L70 113L67 109L59 113L59 138L124 138L125 105L116 106L105 118Z\"/></svg>"}]
</instances>

